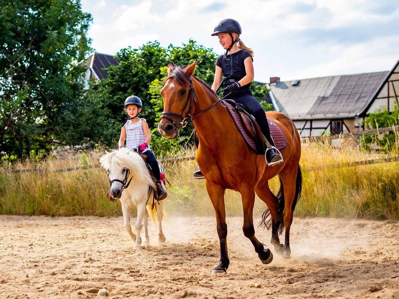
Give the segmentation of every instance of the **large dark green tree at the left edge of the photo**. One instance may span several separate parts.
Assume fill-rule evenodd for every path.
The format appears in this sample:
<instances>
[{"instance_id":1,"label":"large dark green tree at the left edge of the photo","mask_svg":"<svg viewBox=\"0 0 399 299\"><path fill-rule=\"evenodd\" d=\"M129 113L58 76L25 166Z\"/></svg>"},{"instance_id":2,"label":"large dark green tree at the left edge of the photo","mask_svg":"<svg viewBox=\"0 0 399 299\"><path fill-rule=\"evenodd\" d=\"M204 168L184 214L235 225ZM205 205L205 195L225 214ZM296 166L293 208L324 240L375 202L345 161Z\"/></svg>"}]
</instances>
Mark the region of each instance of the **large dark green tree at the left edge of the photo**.
<instances>
[{"instance_id":1,"label":"large dark green tree at the left edge of the photo","mask_svg":"<svg viewBox=\"0 0 399 299\"><path fill-rule=\"evenodd\" d=\"M49 151L79 125L67 116L79 110L91 20L79 0L0 0L1 155Z\"/></svg>"}]
</instances>

